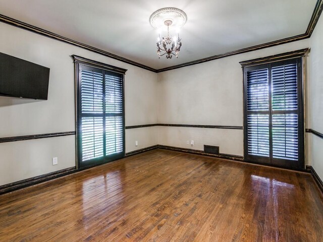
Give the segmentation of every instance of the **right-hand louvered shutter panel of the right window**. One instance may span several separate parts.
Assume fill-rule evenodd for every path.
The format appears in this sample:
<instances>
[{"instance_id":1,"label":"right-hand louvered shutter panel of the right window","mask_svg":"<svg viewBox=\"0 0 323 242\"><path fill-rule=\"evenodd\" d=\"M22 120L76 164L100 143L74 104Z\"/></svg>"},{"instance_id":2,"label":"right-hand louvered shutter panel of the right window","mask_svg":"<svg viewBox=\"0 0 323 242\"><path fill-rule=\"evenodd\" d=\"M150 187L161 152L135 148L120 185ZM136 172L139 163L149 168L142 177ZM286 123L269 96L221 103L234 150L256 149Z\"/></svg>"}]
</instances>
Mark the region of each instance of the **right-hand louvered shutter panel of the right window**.
<instances>
[{"instance_id":1,"label":"right-hand louvered shutter panel of the right window","mask_svg":"<svg viewBox=\"0 0 323 242\"><path fill-rule=\"evenodd\" d=\"M298 160L297 63L272 68L273 158Z\"/></svg>"}]
</instances>

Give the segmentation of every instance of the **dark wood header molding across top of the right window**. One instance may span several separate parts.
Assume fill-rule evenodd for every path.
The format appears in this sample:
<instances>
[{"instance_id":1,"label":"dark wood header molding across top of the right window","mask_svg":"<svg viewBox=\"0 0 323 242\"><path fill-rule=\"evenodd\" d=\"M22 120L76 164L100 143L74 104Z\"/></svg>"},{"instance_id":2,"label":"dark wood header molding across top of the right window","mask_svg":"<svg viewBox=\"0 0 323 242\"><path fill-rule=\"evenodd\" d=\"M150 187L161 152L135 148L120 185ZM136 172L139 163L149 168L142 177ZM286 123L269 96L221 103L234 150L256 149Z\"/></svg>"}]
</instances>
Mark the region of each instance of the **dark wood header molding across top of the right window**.
<instances>
[{"instance_id":1,"label":"dark wood header molding across top of the right window","mask_svg":"<svg viewBox=\"0 0 323 242\"><path fill-rule=\"evenodd\" d=\"M268 64L272 62L284 61L286 59L297 58L305 56L309 48L294 50L290 52L285 52L281 54L270 55L266 57L250 59L249 61L239 62L241 67L251 67L255 65Z\"/></svg>"}]
</instances>

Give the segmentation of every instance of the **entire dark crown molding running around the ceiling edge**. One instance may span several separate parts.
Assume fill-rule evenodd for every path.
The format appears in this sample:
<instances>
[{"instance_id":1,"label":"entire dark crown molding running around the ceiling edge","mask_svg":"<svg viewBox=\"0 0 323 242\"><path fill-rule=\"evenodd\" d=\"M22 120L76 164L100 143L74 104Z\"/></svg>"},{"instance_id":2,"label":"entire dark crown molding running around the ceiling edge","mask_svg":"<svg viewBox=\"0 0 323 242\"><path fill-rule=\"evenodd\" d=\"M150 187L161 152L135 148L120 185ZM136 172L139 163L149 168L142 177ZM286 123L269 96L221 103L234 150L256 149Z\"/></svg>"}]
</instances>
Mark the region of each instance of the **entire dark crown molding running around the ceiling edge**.
<instances>
[{"instance_id":1,"label":"entire dark crown molding running around the ceiling edge","mask_svg":"<svg viewBox=\"0 0 323 242\"><path fill-rule=\"evenodd\" d=\"M143 64L131 61L130 59L121 57L119 55L107 52L102 49L95 48L95 47L87 45L87 44L83 44L81 42L66 38L64 36L61 36L61 35L52 33L50 31L35 27L33 25L30 25L30 24L24 23L22 21L7 17L2 14L0 14L0 22L4 22L6 24L10 24L10 25L16 26L18 28L22 28L22 29L25 29L25 30L28 30L28 31L52 38L52 39L56 39L56 40L68 43L68 44L72 44L72 45L87 49L89 51L104 55L106 57L117 59L118 61L121 61L121 62L130 64L130 65L154 72L154 73L160 73L160 72L166 72L166 71L170 71L170 70L174 70L174 69L178 69L178 68L182 68L182 67L188 67L188 66L192 66L192 65L196 65L196 64L201 64L204 62L213 61L214 59L220 59L220 58L228 57L231 55L246 53L246 52L250 52L250 51L254 51L254 50L258 50L258 49L273 47L273 46L280 45L280 44L286 44L286 43L290 43L293 41L307 39L313 33L313 30L317 24L317 21L321 15L322 10L323 10L323 0L317 0L313 14L311 16L311 19L310 19L309 24L307 26L306 32L304 34L300 34L300 35L296 35L296 36L292 36L292 37L288 37L288 38L284 38L284 39L280 39L280 40L276 40L276 41L272 41L272 42L268 42L268 43L264 43L264 44L258 44L258 45L254 45L251 47L247 47L247 48L243 48L243 49L239 49L239 50L235 50L235 51L231 51L231 52L227 52L227 53L223 53L223 54L217 54L217 55L213 55L210 57L197 59L196 61L187 62L187 63L183 63L180 65L175 65L175 66L161 68L161 69L154 69L154 68L145 66Z\"/></svg>"}]
</instances>

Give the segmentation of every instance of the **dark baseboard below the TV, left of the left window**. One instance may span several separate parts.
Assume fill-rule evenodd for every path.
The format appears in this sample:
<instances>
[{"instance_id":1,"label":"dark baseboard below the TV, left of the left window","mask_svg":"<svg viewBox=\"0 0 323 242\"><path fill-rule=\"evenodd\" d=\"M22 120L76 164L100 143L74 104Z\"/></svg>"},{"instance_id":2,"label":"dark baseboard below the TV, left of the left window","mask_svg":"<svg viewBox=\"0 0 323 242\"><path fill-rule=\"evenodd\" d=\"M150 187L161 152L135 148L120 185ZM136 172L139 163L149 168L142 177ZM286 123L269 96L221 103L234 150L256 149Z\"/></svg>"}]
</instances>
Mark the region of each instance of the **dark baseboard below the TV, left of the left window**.
<instances>
[{"instance_id":1,"label":"dark baseboard below the TV, left of the left window","mask_svg":"<svg viewBox=\"0 0 323 242\"><path fill-rule=\"evenodd\" d=\"M10 193L22 188L30 187L39 183L44 183L45 181L56 179L61 176L72 174L76 171L75 167L69 167L66 169L53 171L43 175L37 175L28 179L15 181L14 183L6 184L0 186L0 195L5 193Z\"/></svg>"}]
</instances>

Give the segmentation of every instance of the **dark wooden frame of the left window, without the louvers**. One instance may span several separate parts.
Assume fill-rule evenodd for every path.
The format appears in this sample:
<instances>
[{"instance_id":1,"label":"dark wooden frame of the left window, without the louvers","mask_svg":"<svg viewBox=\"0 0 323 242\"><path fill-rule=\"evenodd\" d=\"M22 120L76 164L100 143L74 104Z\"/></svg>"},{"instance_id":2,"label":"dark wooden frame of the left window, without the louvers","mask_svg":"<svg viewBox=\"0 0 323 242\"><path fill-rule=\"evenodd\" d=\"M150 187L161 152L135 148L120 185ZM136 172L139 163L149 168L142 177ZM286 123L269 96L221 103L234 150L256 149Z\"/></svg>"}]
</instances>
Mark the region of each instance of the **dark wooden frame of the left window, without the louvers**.
<instances>
[{"instance_id":1,"label":"dark wooden frame of the left window, without the louvers","mask_svg":"<svg viewBox=\"0 0 323 242\"><path fill-rule=\"evenodd\" d=\"M114 67L111 65L107 65L104 63L92 61L90 59L77 56L77 55L72 55L74 64L75 64L75 130L76 130L76 168L77 169L86 169L92 166L108 163L117 159L121 159L125 157L125 74L127 72L126 69ZM81 66L85 66L88 68L94 68L94 69L99 69L103 72L103 99L105 96L105 78L104 78L104 71L107 72L113 72L117 74L122 75L122 142L123 142L123 150L122 152L119 152L117 154L112 154L112 155L103 155L103 157L97 157L93 158L87 161L82 161L82 136L81 136L81 76L80 76L80 71L81 71ZM104 105L104 102L103 102ZM110 115L106 115L105 113L105 107L103 107L103 113L102 115L96 115L94 114L93 116L102 116L103 117L103 124L105 124L105 117L109 117ZM115 115L112 115L115 116ZM105 147L105 126L103 125L103 143ZM105 153L105 151L104 151ZM81 164L82 162L82 164Z\"/></svg>"}]
</instances>

